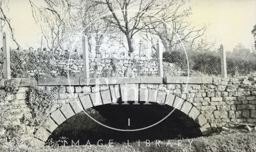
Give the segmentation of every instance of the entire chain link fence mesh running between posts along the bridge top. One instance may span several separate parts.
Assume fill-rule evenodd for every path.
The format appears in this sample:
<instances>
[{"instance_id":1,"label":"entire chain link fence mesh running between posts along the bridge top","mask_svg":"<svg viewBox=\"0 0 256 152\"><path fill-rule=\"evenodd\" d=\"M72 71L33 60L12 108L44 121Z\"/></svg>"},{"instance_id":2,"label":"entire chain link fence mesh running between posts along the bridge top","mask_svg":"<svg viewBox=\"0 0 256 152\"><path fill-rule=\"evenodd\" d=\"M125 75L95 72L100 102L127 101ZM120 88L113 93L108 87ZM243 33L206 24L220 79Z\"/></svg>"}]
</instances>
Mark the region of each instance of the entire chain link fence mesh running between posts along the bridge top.
<instances>
[{"instance_id":1,"label":"entire chain link fence mesh running between posts along the bridge top","mask_svg":"<svg viewBox=\"0 0 256 152\"><path fill-rule=\"evenodd\" d=\"M145 44L144 44L145 43ZM228 77L256 76L256 54L226 52ZM163 52L164 76L218 76L221 59L218 51L173 50ZM188 59L188 60L187 60ZM189 65L189 69L188 69ZM0 76L3 78L3 52L0 52ZM40 50L11 50L12 78L83 77L82 50L69 52ZM138 42L135 51L111 52L101 50L89 54L90 78L158 76L156 48Z\"/></svg>"}]
</instances>

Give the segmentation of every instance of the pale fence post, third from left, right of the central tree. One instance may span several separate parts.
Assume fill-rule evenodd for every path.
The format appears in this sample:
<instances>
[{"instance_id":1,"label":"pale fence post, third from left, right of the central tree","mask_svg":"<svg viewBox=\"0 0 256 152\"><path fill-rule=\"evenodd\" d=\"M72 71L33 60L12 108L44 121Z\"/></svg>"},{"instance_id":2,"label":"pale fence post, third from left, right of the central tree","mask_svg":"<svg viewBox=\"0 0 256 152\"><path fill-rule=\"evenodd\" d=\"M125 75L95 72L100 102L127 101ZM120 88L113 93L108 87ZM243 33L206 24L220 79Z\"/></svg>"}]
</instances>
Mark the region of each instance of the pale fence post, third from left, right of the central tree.
<instances>
[{"instance_id":1,"label":"pale fence post, third from left, right of the central tree","mask_svg":"<svg viewBox=\"0 0 256 152\"><path fill-rule=\"evenodd\" d=\"M163 77L163 49L160 43L160 40L156 42L156 54L157 54L157 67L158 67L158 76Z\"/></svg>"}]
</instances>

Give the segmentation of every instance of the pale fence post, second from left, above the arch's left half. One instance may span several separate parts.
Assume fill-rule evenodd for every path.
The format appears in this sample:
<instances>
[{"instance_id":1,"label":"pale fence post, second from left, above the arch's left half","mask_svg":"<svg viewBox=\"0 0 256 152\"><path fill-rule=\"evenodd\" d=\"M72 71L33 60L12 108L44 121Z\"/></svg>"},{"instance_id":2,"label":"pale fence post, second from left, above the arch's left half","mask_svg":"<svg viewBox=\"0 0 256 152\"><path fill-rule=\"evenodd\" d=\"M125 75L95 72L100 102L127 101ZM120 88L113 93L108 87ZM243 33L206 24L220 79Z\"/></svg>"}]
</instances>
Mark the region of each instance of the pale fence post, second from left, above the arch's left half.
<instances>
[{"instance_id":1,"label":"pale fence post, second from left, above the arch's left half","mask_svg":"<svg viewBox=\"0 0 256 152\"><path fill-rule=\"evenodd\" d=\"M88 37L83 36L83 60L84 60L84 78L89 78L89 49L88 49Z\"/></svg>"}]
</instances>

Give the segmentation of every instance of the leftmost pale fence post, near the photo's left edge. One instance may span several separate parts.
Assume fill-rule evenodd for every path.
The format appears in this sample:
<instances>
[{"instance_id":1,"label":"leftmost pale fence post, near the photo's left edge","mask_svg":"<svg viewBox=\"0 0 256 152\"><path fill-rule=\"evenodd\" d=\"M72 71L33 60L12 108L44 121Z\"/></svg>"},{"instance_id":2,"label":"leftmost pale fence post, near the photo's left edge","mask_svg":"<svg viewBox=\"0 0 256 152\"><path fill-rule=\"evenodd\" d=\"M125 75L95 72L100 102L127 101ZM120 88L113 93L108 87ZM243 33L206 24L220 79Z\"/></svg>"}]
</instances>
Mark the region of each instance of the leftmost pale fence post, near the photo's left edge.
<instances>
[{"instance_id":1,"label":"leftmost pale fence post, near the photo's left edge","mask_svg":"<svg viewBox=\"0 0 256 152\"><path fill-rule=\"evenodd\" d=\"M3 65L3 73L5 79L11 78L11 69L10 69L10 48L8 46L8 42L6 42L6 33L3 32L3 53L4 53L4 65Z\"/></svg>"}]
</instances>

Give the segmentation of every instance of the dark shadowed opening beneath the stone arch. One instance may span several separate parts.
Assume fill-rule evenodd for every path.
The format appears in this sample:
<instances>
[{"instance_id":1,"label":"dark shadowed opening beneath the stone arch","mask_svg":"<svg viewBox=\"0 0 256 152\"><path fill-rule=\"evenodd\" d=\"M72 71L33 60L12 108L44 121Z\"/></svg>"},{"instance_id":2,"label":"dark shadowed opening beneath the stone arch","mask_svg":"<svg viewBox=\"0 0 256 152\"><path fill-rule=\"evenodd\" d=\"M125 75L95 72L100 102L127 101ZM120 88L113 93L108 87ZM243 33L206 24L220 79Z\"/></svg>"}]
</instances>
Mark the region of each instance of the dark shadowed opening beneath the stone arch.
<instances>
[{"instance_id":1,"label":"dark shadowed opening beneath the stone arch","mask_svg":"<svg viewBox=\"0 0 256 152\"><path fill-rule=\"evenodd\" d=\"M140 102L139 102L140 103ZM98 122L112 128L133 130L150 126L167 116L173 108L168 105L160 105L154 102L150 104L105 104L89 108L86 112ZM129 119L129 120L128 120ZM75 114L54 130L52 135L53 141L58 141L61 137L66 137L65 145L71 145L72 140L79 144L97 144L99 140L106 144L109 140L113 142L133 142L145 140L168 140L175 138L194 138L202 136L199 125L179 110L168 116L159 124L150 128L139 131L118 131L106 128L84 112ZM63 144L63 143L59 143Z\"/></svg>"}]
</instances>

